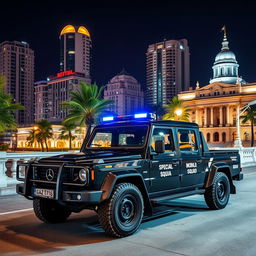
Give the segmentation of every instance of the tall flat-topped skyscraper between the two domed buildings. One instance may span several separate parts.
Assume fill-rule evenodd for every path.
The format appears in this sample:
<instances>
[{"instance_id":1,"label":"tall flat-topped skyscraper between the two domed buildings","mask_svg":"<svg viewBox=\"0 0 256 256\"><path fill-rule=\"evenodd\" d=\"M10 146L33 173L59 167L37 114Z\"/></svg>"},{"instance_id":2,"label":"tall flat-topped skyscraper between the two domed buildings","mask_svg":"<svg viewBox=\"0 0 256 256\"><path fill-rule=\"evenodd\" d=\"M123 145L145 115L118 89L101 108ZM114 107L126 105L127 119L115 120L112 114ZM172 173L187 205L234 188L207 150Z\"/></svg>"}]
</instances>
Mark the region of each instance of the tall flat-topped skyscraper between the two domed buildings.
<instances>
[{"instance_id":1,"label":"tall flat-topped skyscraper between the two domed buildings","mask_svg":"<svg viewBox=\"0 0 256 256\"><path fill-rule=\"evenodd\" d=\"M189 47L186 39L151 44L147 50L145 103L162 107L190 83Z\"/></svg>"}]
</instances>

